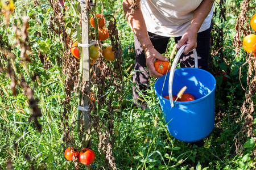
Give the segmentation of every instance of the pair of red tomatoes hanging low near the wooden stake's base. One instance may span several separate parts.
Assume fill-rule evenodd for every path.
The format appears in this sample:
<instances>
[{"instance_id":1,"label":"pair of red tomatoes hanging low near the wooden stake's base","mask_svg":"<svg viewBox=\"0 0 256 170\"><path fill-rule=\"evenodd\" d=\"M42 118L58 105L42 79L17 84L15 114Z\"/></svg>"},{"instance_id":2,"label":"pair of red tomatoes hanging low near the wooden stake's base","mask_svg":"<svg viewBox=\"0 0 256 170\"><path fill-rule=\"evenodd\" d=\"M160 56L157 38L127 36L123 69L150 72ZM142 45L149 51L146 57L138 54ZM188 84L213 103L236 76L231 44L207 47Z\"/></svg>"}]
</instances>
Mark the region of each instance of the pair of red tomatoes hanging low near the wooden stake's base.
<instances>
[{"instance_id":1,"label":"pair of red tomatoes hanging low near the wooden stake's base","mask_svg":"<svg viewBox=\"0 0 256 170\"><path fill-rule=\"evenodd\" d=\"M77 152L75 149L69 147L65 150L64 156L69 161L78 159L81 164L85 165L89 165L95 160L95 154L89 148L83 148L80 152Z\"/></svg>"}]
</instances>

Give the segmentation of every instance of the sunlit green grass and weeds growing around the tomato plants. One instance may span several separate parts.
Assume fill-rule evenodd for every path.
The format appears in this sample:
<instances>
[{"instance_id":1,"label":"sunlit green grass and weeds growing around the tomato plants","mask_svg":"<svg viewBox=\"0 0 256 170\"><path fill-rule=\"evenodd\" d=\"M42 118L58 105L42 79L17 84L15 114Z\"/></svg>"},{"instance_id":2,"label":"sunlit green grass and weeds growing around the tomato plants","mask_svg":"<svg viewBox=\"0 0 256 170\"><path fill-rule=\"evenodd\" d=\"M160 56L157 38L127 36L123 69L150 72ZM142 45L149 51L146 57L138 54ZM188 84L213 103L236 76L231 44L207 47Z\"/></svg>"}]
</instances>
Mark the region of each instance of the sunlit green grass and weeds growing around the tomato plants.
<instances>
[{"instance_id":1,"label":"sunlit green grass and weeds growing around the tomato plants","mask_svg":"<svg viewBox=\"0 0 256 170\"><path fill-rule=\"evenodd\" d=\"M110 2L110 1L108 1ZM31 116L31 108L28 106L28 97L24 95L24 90L16 86L16 96L13 96L10 84L11 78L5 73L1 73L0 83L0 169L8 169L7 162L11 162L14 169L75 169L72 162L64 158L64 149L67 147L81 148L79 134L76 128L77 116L77 88L71 93L68 117L64 121L64 108L61 107L65 100L65 76L63 74L63 49L64 45L61 37L52 33L48 27L49 15L53 15L51 5L48 1L39 2L40 6L32 8L32 1L16 1L15 11L10 16L9 25L6 27L5 18L0 14L0 45L3 48L11 47L11 52L16 55L14 59L16 71L15 76L19 78L22 73L26 83L34 92L34 97L38 101L38 106L43 116L38 118L42 125L40 133L34 121L28 122ZM67 1L70 3L70 1ZM106 2L105 2L106 3ZM255 157L255 141L247 138L247 142L240 148L241 155L236 153L236 141L234 137L240 132L243 120L241 120L240 108L243 103L245 92L241 88L239 80L239 69L245 62L245 52L241 49L238 58L232 46L232 40L236 33L234 24L237 15L240 13L240 1L226 2L226 8L232 4L236 10L227 11L227 21L220 22L214 18L214 22L224 28L225 59L218 54L213 56L212 62L214 70L229 71L228 82L222 82L221 76L216 76L218 86L216 88L216 124L209 135L205 138L204 146L197 147L191 143L180 142L173 138L167 131L166 123L163 120L159 101L154 92L155 78L150 79L150 90L144 100L148 103L147 109L140 109L132 105L132 70L134 67L134 47L133 33L127 24L122 11L121 1L106 3L104 14L113 14L117 19L117 28L122 46L122 94L115 94L113 104L121 103L119 112L113 114L113 155L117 169L253 169ZM77 4L77 3L76 3ZM216 4L218 7L218 5ZM101 8L97 8L98 11ZM32 62L27 63L28 73L23 68L20 58L20 46L15 46L15 35L12 24L21 23L21 16L30 16L30 28L28 37L31 43L29 52ZM232 14L232 15L228 15ZM74 25L75 18L72 8L65 14L65 22ZM67 24L69 25L69 24ZM72 40L77 39L76 28L67 26L67 33ZM56 27L57 28L57 27ZM217 41L217 40L213 40ZM109 40L106 42L110 43ZM170 42L170 49L174 42ZM46 69L41 63L38 55L46 55L46 61L51 67ZM170 50L169 50L170 53ZM8 67L11 63L10 57L0 53L0 65ZM72 56L69 56L72 57ZM115 66L115 63L113 64ZM112 64L108 63L112 68ZM11 66L13 67L13 66ZM242 75L246 75L246 68L242 69ZM28 76L30 74L30 76ZM37 75L39 80L32 80L31 76ZM110 80L106 80L109 81ZM242 84L246 86L246 76L242 77ZM73 88L74 86L72 86ZM93 112L100 118L100 125L107 123L109 115L109 105L112 92L115 86L106 88L106 102L99 103L101 111ZM92 89L95 89L93 87ZM97 89L97 88L96 88ZM122 97L122 101L119 100ZM255 97L254 97L255 98ZM253 99L254 99L253 98ZM255 115L254 115L255 118ZM63 126L63 123L65 126ZM255 124L255 121L254 121ZM68 129L71 128L71 129ZM104 131L104 129L101 129ZM68 143L64 141L65 132L69 135ZM242 134L240 134L242 135ZM92 149L96 153L96 160L93 163L94 169L107 169L107 160L98 148L100 138L97 133L92 136ZM80 164L80 169L85 165ZM110 168L109 168L110 169Z\"/></svg>"}]
</instances>

